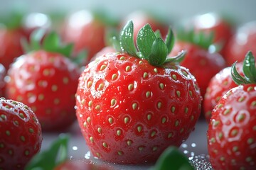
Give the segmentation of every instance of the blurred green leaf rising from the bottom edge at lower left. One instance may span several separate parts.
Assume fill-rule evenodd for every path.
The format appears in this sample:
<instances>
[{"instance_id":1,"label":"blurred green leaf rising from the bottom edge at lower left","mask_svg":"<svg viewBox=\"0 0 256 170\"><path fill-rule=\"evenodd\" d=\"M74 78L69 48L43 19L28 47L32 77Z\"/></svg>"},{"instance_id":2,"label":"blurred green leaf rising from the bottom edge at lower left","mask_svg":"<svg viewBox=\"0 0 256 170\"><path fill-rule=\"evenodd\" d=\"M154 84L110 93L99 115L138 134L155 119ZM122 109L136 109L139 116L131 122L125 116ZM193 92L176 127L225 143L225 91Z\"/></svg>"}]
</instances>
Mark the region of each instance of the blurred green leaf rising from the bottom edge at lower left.
<instances>
[{"instance_id":1,"label":"blurred green leaf rising from the bottom edge at lower left","mask_svg":"<svg viewBox=\"0 0 256 170\"><path fill-rule=\"evenodd\" d=\"M68 157L68 135L61 134L58 140L46 150L36 154L26 165L25 170L48 170L64 162Z\"/></svg>"}]
</instances>

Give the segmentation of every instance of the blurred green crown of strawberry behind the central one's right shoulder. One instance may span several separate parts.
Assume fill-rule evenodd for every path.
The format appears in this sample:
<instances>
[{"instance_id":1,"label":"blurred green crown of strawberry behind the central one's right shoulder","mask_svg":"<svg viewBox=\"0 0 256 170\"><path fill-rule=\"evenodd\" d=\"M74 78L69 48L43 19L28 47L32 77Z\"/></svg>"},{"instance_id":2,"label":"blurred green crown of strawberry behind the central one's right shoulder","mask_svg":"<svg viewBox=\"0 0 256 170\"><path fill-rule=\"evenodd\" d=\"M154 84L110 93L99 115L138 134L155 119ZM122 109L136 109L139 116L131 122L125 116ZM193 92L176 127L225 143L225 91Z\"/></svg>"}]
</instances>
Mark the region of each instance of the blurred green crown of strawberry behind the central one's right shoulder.
<instances>
[{"instance_id":1,"label":"blurred green crown of strawberry behind the central one's right shoulder","mask_svg":"<svg viewBox=\"0 0 256 170\"><path fill-rule=\"evenodd\" d=\"M196 32L193 28L185 30L184 28L178 28L177 39L183 42L190 42L194 45L198 45L209 52L219 52L223 48L223 42L213 42L214 33L204 33L203 31Z\"/></svg>"}]
</instances>

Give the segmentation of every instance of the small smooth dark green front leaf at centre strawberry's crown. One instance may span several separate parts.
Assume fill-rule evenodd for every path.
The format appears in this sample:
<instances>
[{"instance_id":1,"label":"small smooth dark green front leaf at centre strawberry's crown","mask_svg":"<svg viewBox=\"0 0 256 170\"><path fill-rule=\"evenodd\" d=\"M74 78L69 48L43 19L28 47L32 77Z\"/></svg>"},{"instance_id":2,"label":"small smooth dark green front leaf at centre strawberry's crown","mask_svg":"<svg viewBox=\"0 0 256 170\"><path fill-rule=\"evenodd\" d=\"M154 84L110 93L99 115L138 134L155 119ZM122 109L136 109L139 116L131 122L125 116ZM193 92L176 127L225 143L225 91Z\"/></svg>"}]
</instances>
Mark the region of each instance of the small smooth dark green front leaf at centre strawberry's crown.
<instances>
[{"instance_id":1,"label":"small smooth dark green front leaf at centre strawberry's crown","mask_svg":"<svg viewBox=\"0 0 256 170\"><path fill-rule=\"evenodd\" d=\"M167 46L161 38L156 38L151 46L151 53L149 55L149 63L154 66L164 64L167 56Z\"/></svg>"}]
</instances>

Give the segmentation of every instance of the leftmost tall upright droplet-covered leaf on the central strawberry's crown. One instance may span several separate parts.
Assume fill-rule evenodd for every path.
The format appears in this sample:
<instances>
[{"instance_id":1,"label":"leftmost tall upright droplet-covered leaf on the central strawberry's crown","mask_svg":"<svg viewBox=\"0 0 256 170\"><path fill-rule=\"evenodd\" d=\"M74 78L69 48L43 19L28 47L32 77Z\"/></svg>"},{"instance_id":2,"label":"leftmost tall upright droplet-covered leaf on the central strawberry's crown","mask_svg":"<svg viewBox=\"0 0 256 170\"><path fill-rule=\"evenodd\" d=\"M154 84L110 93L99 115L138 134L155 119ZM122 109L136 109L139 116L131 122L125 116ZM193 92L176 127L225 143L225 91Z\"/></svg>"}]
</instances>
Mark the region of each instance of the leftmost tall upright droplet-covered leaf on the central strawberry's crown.
<instances>
[{"instance_id":1,"label":"leftmost tall upright droplet-covered leaf on the central strawberry's crown","mask_svg":"<svg viewBox=\"0 0 256 170\"><path fill-rule=\"evenodd\" d=\"M139 57L134 45L134 26L132 21L129 21L120 33L120 46L123 52L127 52L134 57Z\"/></svg>"}]
</instances>

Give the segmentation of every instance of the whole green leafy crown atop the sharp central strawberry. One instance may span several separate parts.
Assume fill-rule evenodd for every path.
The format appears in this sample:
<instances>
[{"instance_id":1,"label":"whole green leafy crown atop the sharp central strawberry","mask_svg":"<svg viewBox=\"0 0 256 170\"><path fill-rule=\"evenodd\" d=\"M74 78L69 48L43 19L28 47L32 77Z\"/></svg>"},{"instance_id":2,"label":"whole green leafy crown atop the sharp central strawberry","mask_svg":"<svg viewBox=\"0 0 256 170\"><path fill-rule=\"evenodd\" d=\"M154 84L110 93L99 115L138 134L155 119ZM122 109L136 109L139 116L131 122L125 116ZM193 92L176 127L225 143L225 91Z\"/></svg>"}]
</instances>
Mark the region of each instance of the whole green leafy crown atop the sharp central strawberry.
<instances>
[{"instance_id":1,"label":"whole green leafy crown atop the sharp central strawberry","mask_svg":"<svg viewBox=\"0 0 256 170\"><path fill-rule=\"evenodd\" d=\"M186 51L181 51L176 57L167 57L174 47L174 33L169 27L165 40L156 30L154 32L149 24L139 30L137 35L137 47L134 45L134 25L128 21L119 35L119 45L117 38L114 47L116 50L127 52L129 55L149 61L151 65L161 66L166 62L181 62Z\"/></svg>"}]
</instances>

